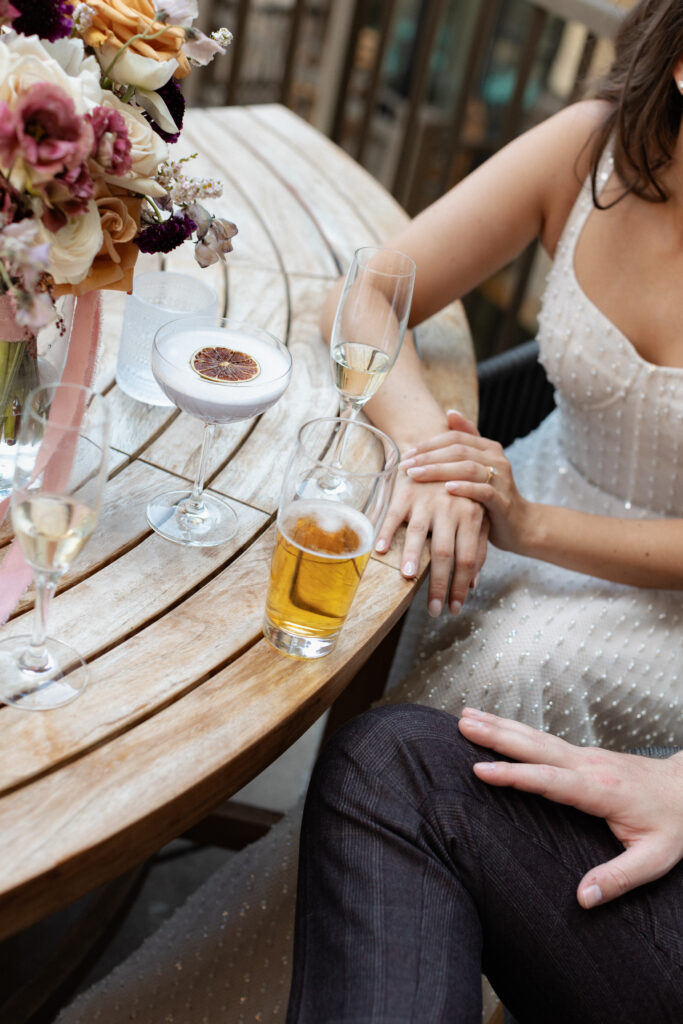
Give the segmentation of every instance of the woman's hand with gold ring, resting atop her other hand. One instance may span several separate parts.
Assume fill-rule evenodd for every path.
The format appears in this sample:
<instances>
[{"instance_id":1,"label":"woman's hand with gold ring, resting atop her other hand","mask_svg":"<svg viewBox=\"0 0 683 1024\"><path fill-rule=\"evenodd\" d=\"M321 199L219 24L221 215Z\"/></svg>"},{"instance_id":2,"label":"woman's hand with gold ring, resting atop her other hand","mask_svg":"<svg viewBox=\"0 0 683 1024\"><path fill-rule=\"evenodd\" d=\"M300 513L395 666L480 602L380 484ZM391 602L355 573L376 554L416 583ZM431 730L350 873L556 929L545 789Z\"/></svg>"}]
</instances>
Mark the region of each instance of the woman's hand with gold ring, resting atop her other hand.
<instances>
[{"instance_id":1,"label":"woman's hand with gold ring, resting atop her other hand","mask_svg":"<svg viewBox=\"0 0 683 1024\"><path fill-rule=\"evenodd\" d=\"M519 551L535 506L517 490L502 445L474 433L458 413L450 412L447 422L449 431L407 452L400 468L413 480L445 481L447 494L479 502L488 513L492 543Z\"/></svg>"}]
</instances>

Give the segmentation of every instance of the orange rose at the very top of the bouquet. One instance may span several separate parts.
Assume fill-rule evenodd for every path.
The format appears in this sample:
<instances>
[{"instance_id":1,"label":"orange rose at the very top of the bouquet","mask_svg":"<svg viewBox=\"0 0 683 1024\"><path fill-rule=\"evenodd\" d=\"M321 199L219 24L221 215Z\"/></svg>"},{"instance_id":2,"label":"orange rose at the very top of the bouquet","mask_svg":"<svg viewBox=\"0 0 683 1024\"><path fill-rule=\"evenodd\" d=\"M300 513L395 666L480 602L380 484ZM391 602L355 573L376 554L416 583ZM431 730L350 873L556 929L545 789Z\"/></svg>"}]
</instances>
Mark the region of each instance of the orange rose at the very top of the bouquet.
<instances>
[{"instance_id":1,"label":"orange rose at the very top of the bouquet","mask_svg":"<svg viewBox=\"0 0 683 1024\"><path fill-rule=\"evenodd\" d=\"M88 46L116 52L133 36L156 36L159 32L161 35L155 39L136 39L128 49L153 60L176 60L175 78L189 74L189 63L182 52L184 31L175 25L156 22L152 0L88 0L88 6L94 12L91 25L83 32Z\"/></svg>"}]
</instances>

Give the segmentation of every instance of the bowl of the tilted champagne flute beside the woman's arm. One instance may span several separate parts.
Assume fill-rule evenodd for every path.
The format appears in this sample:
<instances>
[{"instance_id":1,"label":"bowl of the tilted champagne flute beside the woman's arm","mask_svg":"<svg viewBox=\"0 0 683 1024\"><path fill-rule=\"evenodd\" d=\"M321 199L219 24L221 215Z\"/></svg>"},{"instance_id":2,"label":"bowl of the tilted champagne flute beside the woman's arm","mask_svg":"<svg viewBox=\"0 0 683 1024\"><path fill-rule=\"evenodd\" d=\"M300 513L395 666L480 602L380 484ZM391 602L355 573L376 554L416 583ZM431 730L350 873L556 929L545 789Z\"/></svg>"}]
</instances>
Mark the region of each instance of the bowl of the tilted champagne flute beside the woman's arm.
<instances>
[{"instance_id":1,"label":"bowl of the tilted champagne flute beside the woman's arm","mask_svg":"<svg viewBox=\"0 0 683 1024\"><path fill-rule=\"evenodd\" d=\"M358 415L396 361L415 274L415 261L395 249L364 246L353 253L330 338L342 417Z\"/></svg>"}]
</instances>

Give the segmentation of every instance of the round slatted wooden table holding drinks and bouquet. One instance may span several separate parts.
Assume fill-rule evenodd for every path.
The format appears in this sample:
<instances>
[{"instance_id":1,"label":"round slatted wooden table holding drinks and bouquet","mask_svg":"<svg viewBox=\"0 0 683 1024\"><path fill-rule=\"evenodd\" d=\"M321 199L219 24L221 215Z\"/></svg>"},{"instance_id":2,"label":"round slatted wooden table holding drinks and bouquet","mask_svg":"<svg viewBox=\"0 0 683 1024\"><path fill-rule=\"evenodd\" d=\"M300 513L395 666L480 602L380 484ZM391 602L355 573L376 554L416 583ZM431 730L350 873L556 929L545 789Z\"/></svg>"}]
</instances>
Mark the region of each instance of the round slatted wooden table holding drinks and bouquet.
<instances>
[{"instance_id":1,"label":"round slatted wooden table holding drinks and bouquet","mask_svg":"<svg viewBox=\"0 0 683 1024\"><path fill-rule=\"evenodd\" d=\"M50 633L89 662L90 682L58 711L0 710L0 938L140 862L266 767L335 700L417 586L397 571L397 543L371 559L333 654L297 662L263 640L284 461L302 422L337 412L321 301L352 251L386 239L405 214L281 106L193 110L179 152L199 154L196 175L224 181L212 209L240 233L226 268L200 270L191 247L167 266L203 274L229 315L283 338L292 381L278 406L221 428L211 449L208 482L236 508L233 540L188 550L163 541L146 524L146 502L191 480L202 425L116 386L124 296L104 296L96 383L115 424L111 479L97 530L50 616ZM474 416L461 307L417 339L441 381L446 359L447 400ZM0 543L8 540L5 521ZM31 604L30 592L0 636L30 631Z\"/></svg>"}]
</instances>

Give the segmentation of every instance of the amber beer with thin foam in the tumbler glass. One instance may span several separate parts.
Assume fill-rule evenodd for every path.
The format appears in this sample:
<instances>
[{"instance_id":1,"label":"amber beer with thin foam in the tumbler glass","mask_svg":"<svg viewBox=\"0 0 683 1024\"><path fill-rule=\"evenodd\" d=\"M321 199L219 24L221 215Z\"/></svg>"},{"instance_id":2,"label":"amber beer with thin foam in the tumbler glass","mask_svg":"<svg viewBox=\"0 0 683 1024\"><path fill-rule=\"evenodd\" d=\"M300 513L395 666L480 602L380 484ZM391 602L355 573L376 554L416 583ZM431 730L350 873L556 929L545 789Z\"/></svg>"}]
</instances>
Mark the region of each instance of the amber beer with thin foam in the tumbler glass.
<instances>
[{"instance_id":1,"label":"amber beer with thin foam in the tumbler glass","mask_svg":"<svg viewBox=\"0 0 683 1024\"><path fill-rule=\"evenodd\" d=\"M287 506L278 525L266 620L289 634L334 639L368 564L374 536L370 520L347 505L302 500Z\"/></svg>"}]
</instances>

